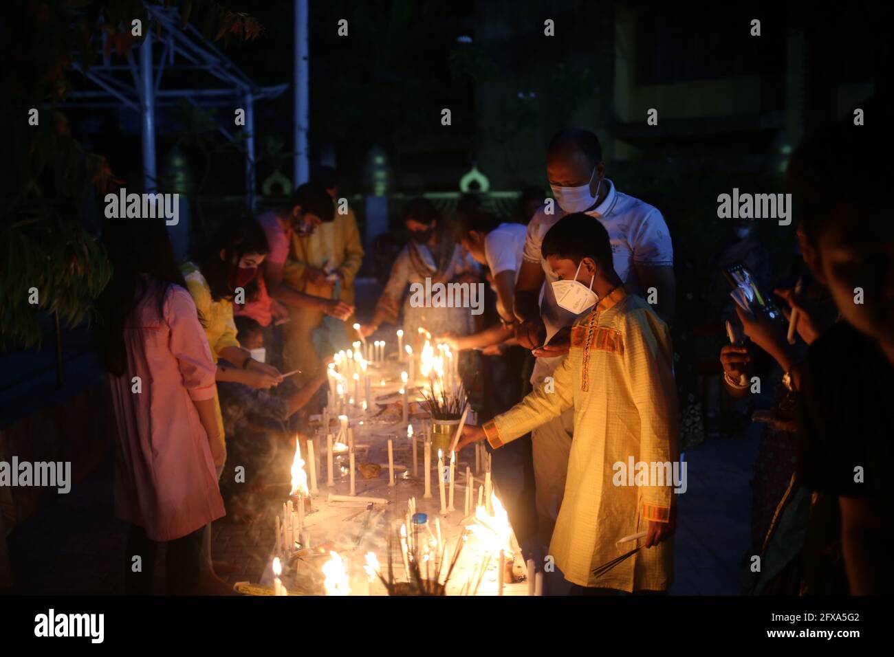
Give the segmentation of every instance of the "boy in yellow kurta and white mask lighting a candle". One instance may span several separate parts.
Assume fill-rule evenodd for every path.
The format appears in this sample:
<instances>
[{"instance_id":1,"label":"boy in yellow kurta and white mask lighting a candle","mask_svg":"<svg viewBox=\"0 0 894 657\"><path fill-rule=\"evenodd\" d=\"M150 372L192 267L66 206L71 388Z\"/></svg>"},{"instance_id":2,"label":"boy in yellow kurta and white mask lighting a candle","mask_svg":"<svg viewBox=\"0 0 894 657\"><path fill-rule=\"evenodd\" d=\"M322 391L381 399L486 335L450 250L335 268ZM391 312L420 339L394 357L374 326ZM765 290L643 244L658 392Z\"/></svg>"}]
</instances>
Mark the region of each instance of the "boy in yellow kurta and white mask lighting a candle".
<instances>
[{"instance_id":1,"label":"boy in yellow kurta and white mask lighting a candle","mask_svg":"<svg viewBox=\"0 0 894 657\"><path fill-rule=\"evenodd\" d=\"M672 579L674 507L673 478L666 474L679 459L668 327L623 287L608 233L595 217L563 217L546 234L543 254L561 277L560 305L581 313L597 296L598 302L572 327L568 356L552 381L483 427L467 426L460 447L486 439L499 448L573 408L568 480L550 554L575 585L664 591ZM631 463L662 476L628 476ZM642 531L647 534L636 543L617 543ZM637 545L642 549L628 560L594 574Z\"/></svg>"}]
</instances>

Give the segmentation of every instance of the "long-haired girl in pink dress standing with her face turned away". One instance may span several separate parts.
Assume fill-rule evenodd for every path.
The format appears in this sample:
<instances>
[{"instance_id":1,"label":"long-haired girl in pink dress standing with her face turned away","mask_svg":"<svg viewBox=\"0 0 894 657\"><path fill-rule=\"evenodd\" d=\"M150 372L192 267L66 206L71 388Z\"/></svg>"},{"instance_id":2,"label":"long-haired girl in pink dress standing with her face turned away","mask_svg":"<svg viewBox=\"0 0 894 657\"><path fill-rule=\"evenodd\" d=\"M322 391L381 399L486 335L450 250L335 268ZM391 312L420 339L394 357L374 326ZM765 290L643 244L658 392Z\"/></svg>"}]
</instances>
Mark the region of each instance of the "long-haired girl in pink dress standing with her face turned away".
<instances>
[{"instance_id":1,"label":"long-haired girl in pink dress standing with her face turned away","mask_svg":"<svg viewBox=\"0 0 894 657\"><path fill-rule=\"evenodd\" d=\"M151 593L167 543L168 593L189 594L202 528L224 515L211 455L215 363L164 223L109 220L103 241L114 274L97 299L97 338L118 430L115 515L131 524L127 591Z\"/></svg>"}]
</instances>

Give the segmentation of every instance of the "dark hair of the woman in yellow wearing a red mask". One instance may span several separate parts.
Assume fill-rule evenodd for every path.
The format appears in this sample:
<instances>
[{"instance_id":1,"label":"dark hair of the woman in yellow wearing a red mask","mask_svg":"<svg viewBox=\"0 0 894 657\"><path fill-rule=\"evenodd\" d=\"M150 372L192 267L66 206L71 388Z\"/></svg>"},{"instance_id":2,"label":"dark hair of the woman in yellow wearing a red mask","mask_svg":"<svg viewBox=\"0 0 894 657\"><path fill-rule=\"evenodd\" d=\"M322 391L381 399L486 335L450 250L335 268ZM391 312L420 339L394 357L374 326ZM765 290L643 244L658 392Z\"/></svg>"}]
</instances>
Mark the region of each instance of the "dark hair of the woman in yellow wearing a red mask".
<instances>
[{"instance_id":1,"label":"dark hair of the woman in yellow wearing a red mask","mask_svg":"<svg viewBox=\"0 0 894 657\"><path fill-rule=\"evenodd\" d=\"M211 298L220 301L232 300L235 296L233 274L239 265L233 262L238 263L249 253L266 256L269 252L266 233L257 219L240 216L235 220L224 220L210 240L194 249L193 257L211 288ZM252 281L246 286L246 299L252 299L256 292L257 282Z\"/></svg>"}]
</instances>

